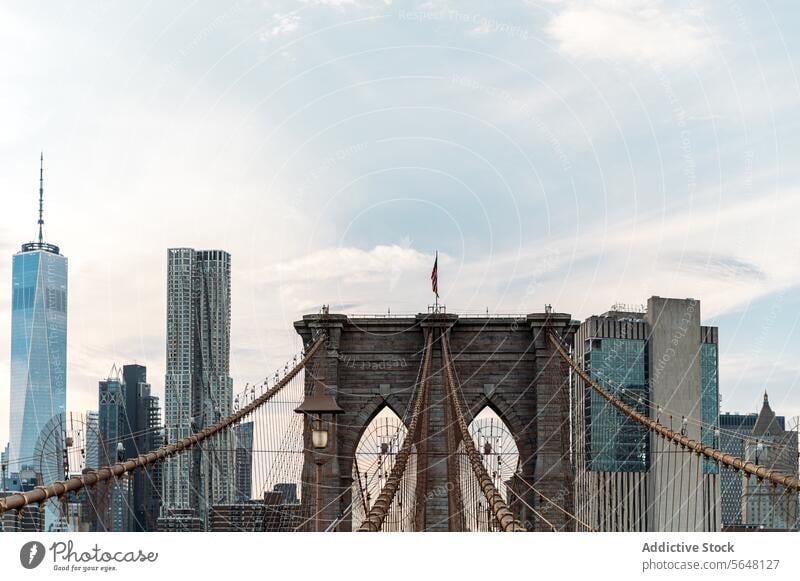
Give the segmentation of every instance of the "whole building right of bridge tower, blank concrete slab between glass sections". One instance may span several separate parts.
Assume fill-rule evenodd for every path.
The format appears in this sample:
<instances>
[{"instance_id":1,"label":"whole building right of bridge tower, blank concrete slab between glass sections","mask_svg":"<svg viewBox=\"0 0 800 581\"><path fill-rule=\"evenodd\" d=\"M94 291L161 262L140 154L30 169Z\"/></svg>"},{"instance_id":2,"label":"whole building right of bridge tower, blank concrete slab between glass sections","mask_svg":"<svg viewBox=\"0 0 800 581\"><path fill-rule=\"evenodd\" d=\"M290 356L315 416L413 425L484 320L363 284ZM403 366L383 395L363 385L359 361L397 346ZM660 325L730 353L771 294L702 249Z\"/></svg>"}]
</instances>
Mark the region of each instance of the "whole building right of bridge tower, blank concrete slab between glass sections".
<instances>
[{"instance_id":1,"label":"whole building right of bridge tower, blank concrete slab between glass sections","mask_svg":"<svg viewBox=\"0 0 800 581\"><path fill-rule=\"evenodd\" d=\"M700 324L699 301L651 297L646 308L589 317L575 334L575 358L637 411L715 445L717 329ZM671 453L578 376L573 404L575 506L581 519L602 531L719 530L714 463ZM679 511L667 502L675 494L685 498Z\"/></svg>"}]
</instances>

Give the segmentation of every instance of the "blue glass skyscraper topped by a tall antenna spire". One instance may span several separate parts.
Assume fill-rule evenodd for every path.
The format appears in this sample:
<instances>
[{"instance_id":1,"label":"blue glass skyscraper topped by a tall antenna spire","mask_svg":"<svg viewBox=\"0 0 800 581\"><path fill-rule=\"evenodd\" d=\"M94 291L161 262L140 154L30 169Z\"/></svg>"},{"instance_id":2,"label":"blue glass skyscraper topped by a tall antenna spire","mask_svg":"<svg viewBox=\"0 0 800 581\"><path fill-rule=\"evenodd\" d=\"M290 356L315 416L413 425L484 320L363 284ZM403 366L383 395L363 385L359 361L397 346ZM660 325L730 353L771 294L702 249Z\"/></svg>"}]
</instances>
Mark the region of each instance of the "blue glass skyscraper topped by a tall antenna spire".
<instances>
[{"instance_id":1,"label":"blue glass skyscraper topped by a tall antenna spire","mask_svg":"<svg viewBox=\"0 0 800 581\"><path fill-rule=\"evenodd\" d=\"M30 467L39 432L67 404L67 259L44 241L41 161L38 236L11 267L9 473Z\"/></svg>"}]
</instances>

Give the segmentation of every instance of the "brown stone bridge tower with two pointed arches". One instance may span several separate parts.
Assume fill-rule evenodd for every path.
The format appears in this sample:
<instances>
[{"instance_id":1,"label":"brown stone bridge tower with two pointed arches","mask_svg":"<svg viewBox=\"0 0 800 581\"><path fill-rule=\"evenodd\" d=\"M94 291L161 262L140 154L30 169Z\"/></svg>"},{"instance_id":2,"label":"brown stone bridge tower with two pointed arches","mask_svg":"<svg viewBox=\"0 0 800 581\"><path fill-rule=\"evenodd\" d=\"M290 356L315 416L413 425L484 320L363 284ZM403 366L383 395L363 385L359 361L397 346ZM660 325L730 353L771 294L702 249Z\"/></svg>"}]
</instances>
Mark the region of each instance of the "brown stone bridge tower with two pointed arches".
<instances>
[{"instance_id":1,"label":"brown stone bridge tower with two pointed arches","mask_svg":"<svg viewBox=\"0 0 800 581\"><path fill-rule=\"evenodd\" d=\"M420 370L425 336L448 333L456 373L466 402L467 422L489 406L505 422L519 449L519 477L543 495L572 511L573 472L570 463L569 369L547 341L552 330L572 343L577 323L568 314L535 313L520 317L469 317L451 314L348 317L306 315L296 331L308 343L318 330L329 337L308 369L322 376L328 392L344 413L331 431L322 467L323 522L334 522L352 500L356 447L371 420L386 406L409 421L414 385ZM448 514L448 456L444 425L441 351L433 350L428 406L424 424L430 436L418 452L426 490L417 491L417 523L422 530L458 530ZM306 394L313 380L306 374ZM424 429L424 428L423 428ZM306 429L308 432L308 428ZM308 439L306 434L306 439ZM424 452L424 454L423 454ZM306 452L303 502L314 502L313 452ZM572 530L566 515L521 483L515 491L559 530ZM439 491L429 494L430 491ZM426 499L421 502L421 499ZM528 530L549 530L520 501L511 502ZM310 510L313 514L314 510ZM345 516L337 530L351 530Z\"/></svg>"}]
</instances>

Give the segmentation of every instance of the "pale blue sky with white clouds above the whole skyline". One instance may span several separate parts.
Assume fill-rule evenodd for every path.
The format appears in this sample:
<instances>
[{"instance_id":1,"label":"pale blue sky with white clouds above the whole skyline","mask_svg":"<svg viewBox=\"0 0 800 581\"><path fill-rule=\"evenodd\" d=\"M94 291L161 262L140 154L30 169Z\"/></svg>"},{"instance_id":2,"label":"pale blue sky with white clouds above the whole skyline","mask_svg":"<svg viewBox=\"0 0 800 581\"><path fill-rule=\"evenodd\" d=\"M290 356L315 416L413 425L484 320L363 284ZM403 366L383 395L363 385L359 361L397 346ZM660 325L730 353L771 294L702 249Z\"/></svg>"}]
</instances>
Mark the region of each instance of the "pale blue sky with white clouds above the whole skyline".
<instances>
[{"instance_id":1,"label":"pale blue sky with white clouds above the whole skyline","mask_svg":"<svg viewBox=\"0 0 800 581\"><path fill-rule=\"evenodd\" d=\"M44 150L70 410L113 364L163 394L188 246L232 255L237 391L322 304L424 312L438 251L450 312L700 299L723 410L766 389L800 415L798 24L791 1L3 2L0 410Z\"/></svg>"}]
</instances>

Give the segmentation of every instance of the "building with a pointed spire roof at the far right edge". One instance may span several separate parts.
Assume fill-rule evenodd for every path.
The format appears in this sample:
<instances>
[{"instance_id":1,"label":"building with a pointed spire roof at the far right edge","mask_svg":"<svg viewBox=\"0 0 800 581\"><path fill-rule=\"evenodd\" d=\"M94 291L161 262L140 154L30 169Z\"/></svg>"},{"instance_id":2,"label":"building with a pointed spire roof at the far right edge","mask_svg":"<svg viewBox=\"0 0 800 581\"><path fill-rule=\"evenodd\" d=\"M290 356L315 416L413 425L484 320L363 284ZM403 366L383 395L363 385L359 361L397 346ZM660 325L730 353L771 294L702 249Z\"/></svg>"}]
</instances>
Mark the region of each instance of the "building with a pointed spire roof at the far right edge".
<instances>
[{"instance_id":1,"label":"building with a pointed spire roof at the far right edge","mask_svg":"<svg viewBox=\"0 0 800 581\"><path fill-rule=\"evenodd\" d=\"M744 442L744 459L797 477L797 432L786 431L769 405L764 403ZM770 530L797 530L797 492L779 488L755 476L743 477L742 521L746 527Z\"/></svg>"}]
</instances>

